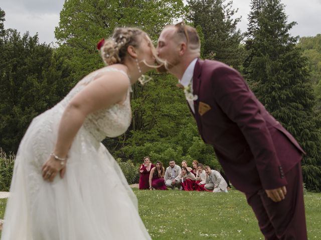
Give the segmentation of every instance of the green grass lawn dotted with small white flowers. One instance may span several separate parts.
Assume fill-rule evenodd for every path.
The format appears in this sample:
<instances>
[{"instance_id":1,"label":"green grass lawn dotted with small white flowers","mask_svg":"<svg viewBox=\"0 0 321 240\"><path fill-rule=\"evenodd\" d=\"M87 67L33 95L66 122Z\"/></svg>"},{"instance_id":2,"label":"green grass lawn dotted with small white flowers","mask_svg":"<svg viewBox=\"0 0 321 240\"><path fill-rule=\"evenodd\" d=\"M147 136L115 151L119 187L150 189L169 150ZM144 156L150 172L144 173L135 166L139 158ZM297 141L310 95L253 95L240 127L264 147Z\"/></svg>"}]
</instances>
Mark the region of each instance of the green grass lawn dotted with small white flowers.
<instances>
[{"instance_id":1,"label":"green grass lawn dotted with small white flowers","mask_svg":"<svg viewBox=\"0 0 321 240\"><path fill-rule=\"evenodd\" d=\"M153 240L264 239L243 193L149 191L134 188L139 213ZM321 239L321 193L307 192L308 239ZM5 199L0 199L3 218Z\"/></svg>"}]
</instances>

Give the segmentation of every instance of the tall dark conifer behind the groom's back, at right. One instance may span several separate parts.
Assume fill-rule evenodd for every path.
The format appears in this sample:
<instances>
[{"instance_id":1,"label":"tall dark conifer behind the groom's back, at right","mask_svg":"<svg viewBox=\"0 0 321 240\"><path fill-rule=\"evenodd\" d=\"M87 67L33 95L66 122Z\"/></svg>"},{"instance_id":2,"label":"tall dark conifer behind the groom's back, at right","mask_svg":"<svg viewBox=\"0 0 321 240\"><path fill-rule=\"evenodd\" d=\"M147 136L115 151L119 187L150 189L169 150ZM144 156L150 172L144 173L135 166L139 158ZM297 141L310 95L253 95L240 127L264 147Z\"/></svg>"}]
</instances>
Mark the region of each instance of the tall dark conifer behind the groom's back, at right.
<instances>
[{"instance_id":1,"label":"tall dark conifer behind the groom's back, at right","mask_svg":"<svg viewBox=\"0 0 321 240\"><path fill-rule=\"evenodd\" d=\"M258 4L259 3L259 4ZM260 101L298 140L307 154L302 160L303 181L310 190L321 190L320 116L306 58L289 35L295 22L287 23L280 0L253 0L249 15L244 69Z\"/></svg>"}]
</instances>

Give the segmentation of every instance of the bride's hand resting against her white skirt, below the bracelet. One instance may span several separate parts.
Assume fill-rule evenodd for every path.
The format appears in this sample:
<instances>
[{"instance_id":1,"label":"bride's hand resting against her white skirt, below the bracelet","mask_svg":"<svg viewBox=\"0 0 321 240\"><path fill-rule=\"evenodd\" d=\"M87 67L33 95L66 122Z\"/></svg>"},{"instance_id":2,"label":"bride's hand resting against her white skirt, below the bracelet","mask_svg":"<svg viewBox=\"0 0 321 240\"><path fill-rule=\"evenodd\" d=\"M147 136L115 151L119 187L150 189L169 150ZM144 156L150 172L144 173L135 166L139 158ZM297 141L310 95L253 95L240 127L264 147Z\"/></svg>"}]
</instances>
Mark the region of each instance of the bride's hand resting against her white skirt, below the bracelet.
<instances>
[{"instance_id":1,"label":"bride's hand resting against her white skirt, below the bracelet","mask_svg":"<svg viewBox=\"0 0 321 240\"><path fill-rule=\"evenodd\" d=\"M65 175L65 171L66 160L61 161L51 155L42 166L42 177L44 180L53 181L58 172L60 172L60 177L62 178Z\"/></svg>"}]
</instances>

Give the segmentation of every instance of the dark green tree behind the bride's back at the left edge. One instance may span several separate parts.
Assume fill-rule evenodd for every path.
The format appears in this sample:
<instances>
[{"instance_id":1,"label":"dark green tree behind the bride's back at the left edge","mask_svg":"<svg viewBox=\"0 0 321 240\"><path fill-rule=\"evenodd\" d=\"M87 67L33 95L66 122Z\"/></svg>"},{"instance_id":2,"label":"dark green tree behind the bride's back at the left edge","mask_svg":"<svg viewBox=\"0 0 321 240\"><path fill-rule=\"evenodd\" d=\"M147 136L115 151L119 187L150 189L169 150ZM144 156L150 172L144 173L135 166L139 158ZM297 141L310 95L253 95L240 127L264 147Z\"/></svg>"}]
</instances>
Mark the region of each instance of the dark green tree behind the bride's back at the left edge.
<instances>
[{"instance_id":1,"label":"dark green tree behind the bride's back at the left edge","mask_svg":"<svg viewBox=\"0 0 321 240\"><path fill-rule=\"evenodd\" d=\"M38 35L7 29L0 52L0 145L16 152L33 117L66 94L68 70ZM61 65L61 66L60 66Z\"/></svg>"}]
</instances>

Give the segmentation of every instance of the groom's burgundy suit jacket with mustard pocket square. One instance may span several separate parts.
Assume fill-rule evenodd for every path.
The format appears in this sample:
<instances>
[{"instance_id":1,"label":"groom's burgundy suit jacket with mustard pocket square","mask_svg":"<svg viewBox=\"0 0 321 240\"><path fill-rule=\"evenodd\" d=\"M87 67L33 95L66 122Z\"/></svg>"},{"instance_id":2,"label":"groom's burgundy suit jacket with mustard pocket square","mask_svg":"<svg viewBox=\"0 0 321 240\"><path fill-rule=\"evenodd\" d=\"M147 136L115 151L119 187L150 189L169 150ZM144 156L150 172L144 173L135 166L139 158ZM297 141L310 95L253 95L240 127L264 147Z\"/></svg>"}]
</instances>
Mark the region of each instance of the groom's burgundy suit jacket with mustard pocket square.
<instances>
[{"instance_id":1,"label":"groom's burgundy suit jacket with mustard pocket square","mask_svg":"<svg viewBox=\"0 0 321 240\"><path fill-rule=\"evenodd\" d=\"M199 132L212 144L226 175L247 193L286 185L284 174L304 151L255 97L238 71L198 59L193 74Z\"/></svg>"}]
</instances>

